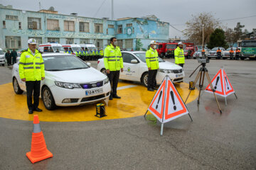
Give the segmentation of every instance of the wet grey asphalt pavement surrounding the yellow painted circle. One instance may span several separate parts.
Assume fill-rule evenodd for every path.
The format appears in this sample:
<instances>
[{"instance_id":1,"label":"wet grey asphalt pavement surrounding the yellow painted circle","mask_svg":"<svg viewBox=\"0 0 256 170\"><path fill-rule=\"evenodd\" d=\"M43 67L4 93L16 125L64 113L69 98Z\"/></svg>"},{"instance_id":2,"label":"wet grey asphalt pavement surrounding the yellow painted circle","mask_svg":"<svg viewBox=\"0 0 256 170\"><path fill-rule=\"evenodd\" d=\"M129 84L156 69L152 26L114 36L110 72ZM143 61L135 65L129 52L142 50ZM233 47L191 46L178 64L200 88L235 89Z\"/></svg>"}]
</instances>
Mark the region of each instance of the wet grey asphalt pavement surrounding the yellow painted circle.
<instances>
[{"instance_id":1,"label":"wet grey asphalt pavement surrounding the yellow painted circle","mask_svg":"<svg viewBox=\"0 0 256 170\"><path fill-rule=\"evenodd\" d=\"M224 98L218 96L220 114L213 94L203 93L199 106L196 101L187 105L193 122L183 115L165 123L163 136L160 123L155 125L143 116L41 122L53 158L36 164L26 157L33 123L0 118L0 169L256 169L255 64L210 60L210 77L224 67L238 99L228 96L225 106ZM196 60L186 60L186 83L195 79L196 74L188 76L197 66ZM9 82L11 69L0 67L0 84Z\"/></svg>"}]
</instances>

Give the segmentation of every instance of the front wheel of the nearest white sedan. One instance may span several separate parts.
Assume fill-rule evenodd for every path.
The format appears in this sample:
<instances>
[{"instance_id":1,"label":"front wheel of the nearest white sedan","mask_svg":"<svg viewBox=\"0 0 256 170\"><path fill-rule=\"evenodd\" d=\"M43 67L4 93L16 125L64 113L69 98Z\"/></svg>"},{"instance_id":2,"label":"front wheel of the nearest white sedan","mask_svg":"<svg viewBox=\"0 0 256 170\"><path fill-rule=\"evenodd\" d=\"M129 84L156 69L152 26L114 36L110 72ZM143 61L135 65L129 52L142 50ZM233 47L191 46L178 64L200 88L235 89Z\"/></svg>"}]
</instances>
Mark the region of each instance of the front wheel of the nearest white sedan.
<instances>
[{"instance_id":1,"label":"front wheel of the nearest white sedan","mask_svg":"<svg viewBox=\"0 0 256 170\"><path fill-rule=\"evenodd\" d=\"M42 90L42 99L43 99L43 105L48 110L53 110L56 108L53 94L50 92L50 89L47 86L45 86Z\"/></svg>"}]
</instances>

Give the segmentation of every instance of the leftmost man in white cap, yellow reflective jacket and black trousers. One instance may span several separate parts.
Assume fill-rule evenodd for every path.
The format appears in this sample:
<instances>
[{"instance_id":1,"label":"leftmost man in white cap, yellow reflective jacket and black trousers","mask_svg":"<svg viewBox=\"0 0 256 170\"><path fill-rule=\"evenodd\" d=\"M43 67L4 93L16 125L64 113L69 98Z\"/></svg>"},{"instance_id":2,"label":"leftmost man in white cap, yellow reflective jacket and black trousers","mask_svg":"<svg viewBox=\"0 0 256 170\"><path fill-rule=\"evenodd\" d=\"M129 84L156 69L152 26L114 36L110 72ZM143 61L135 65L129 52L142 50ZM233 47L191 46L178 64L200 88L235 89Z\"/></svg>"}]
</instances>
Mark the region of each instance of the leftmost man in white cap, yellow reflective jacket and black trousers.
<instances>
[{"instance_id":1,"label":"leftmost man in white cap, yellow reflective jacket and black trousers","mask_svg":"<svg viewBox=\"0 0 256 170\"><path fill-rule=\"evenodd\" d=\"M41 80L45 79L45 70L43 64L43 57L41 52L36 50L36 40L31 38L28 40L28 50L23 50L21 53L21 60L18 65L18 73L21 81L26 82L28 113L33 111L41 112L38 108L40 84ZM33 104L32 104L33 94Z\"/></svg>"}]
</instances>

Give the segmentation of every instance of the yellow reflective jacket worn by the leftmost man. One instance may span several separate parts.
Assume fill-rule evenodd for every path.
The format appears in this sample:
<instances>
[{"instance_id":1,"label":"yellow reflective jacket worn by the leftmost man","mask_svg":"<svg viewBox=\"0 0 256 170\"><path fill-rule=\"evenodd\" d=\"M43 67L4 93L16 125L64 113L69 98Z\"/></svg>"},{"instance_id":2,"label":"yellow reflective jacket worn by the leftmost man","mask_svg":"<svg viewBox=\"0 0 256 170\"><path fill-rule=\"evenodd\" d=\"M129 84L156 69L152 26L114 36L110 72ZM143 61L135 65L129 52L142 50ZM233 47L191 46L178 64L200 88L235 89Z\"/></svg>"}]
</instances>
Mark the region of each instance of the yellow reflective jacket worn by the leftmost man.
<instances>
[{"instance_id":1,"label":"yellow reflective jacket worn by the leftmost man","mask_svg":"<svg viewBox=\"0 0 256 170\"><path fill-rule=\"evenodd\" d=\"M42 77L45 77L44 69L41 52L36 50L35 55L32 55L29 48L28 50L23 50L18 64L18 73L21 79L26 78L26 81L40 81Z\"/></svg>"}]
</instances>

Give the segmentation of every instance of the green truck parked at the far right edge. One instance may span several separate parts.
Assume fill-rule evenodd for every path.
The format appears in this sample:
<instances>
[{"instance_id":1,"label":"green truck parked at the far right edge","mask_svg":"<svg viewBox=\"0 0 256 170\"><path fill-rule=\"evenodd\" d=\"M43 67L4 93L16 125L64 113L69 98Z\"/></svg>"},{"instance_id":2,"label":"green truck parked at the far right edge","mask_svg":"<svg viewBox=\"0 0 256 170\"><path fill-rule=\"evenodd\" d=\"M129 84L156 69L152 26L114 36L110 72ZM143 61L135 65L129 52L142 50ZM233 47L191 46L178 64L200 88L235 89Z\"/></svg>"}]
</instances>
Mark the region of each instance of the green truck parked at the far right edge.
<instances>
[{"instance_id":1,"label":"green truck parked at the far right edge","mask_svg":"<svg viewBox=\"0 0 256 170\"><path fill-rule=\"evenodd\" d=\"M256 40L242 40L240 54L241 60L256 60Z\"/></svg>"}]
</instances>

